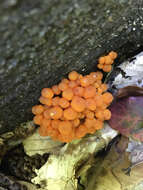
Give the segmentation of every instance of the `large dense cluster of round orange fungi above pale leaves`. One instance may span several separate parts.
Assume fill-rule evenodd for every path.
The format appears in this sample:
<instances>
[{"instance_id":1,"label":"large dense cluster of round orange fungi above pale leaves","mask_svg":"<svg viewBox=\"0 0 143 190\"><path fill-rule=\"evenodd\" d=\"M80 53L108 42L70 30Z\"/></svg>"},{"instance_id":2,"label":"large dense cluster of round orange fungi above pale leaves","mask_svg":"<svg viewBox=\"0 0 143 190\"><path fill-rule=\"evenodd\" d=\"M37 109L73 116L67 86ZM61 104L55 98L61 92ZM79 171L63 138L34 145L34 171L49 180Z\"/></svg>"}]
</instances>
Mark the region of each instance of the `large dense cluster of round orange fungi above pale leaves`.
<instances>
[{"instance_id":1,"label":"large dense cluster of round orange fungi above pale leaves","mask_svg":"<svg viewBox=\"0 0 143 190\"><path fill-rule=\"evenodd\" d=\"M104 120L111 117L107 107L113 100L102 78L99 71L86 76L72 71L68 79L42 89L41 104L32 107L34 123L40 125L39 134L70 142L101 129Z\"/></svg>"}]
</instances>

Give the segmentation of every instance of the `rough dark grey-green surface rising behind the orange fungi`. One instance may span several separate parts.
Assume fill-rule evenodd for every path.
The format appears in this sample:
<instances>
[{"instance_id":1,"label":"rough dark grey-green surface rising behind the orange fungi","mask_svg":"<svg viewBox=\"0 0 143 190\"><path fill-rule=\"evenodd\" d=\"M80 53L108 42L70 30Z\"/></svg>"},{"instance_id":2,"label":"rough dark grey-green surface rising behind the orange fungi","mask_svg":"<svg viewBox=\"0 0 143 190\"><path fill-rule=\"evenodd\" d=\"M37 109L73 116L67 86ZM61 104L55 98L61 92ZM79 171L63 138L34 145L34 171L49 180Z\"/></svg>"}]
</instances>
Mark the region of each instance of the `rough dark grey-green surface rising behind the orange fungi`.
<instances>
[{"instance_id":1,"label":"rough dark grey-green surface rising behind the orange fungi","mask_svg":"<svg viewBox=\"0 0 143 190\"><path fill-rule=\"evenodd\" d=\"M110 50L142 49L142 0L0 2L0 133L32 119L40 90L72 70L95 70Z\"/></svg>"}]
</instances>

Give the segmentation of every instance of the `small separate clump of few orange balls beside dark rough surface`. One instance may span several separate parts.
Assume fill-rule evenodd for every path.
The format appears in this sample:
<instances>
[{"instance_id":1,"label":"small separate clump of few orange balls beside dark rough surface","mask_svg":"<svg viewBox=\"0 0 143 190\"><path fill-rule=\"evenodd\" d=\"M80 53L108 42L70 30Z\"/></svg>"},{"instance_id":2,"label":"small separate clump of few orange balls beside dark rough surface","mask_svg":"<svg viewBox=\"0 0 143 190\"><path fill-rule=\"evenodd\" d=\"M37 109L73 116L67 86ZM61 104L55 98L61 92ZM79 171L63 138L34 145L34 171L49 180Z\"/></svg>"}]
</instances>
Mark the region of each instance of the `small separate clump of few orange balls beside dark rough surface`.
<instances>
[{"instance_id":1,"label":"small separate clump of few orange balls beside dark rough surface","mask_svg":"<svg viewBox=\"0 0 143 190\"><path fill-rule=\"evenodd\" d=\"M111 51L108 55L99 58L97 67L104 72L110 72L112 69L112 64L116 58L117 53Z\"/></svg>"}]
</instances>

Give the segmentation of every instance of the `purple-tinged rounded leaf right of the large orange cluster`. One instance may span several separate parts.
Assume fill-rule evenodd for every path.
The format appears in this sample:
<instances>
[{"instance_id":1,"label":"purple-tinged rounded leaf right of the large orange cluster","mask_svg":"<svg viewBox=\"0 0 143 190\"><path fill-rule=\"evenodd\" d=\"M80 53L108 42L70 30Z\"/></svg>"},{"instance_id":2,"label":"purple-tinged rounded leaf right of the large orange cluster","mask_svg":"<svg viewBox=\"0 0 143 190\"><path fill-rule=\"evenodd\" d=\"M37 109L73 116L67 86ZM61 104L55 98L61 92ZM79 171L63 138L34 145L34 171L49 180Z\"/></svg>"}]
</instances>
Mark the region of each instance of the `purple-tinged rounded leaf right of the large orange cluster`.
<instances>
[{"instance_id":1,"label":"purple-tinged rounded leaf right of the large orange cluster","mask_svg":"<svg viewBox=\"0 0 143 190\"><path fill-rule=\"evenodd\" d=\"M143 142L143 96L117 99L110 106L109 124L122 135Z\"/></svg>"}]
</instances>

